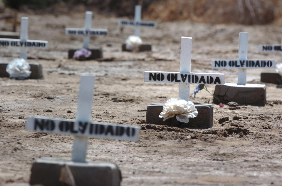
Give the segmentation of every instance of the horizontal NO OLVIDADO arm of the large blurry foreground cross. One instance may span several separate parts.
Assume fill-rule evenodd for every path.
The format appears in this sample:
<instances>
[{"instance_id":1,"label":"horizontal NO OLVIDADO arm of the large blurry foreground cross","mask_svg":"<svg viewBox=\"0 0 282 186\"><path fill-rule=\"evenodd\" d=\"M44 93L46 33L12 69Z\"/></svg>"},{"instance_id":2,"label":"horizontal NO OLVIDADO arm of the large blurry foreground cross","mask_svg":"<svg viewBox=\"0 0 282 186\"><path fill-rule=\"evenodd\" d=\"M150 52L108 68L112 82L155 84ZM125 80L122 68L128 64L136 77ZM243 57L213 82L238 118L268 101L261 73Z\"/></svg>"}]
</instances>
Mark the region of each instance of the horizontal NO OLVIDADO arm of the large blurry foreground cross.
<instances>
[{"instance_id":1,"label":"horizontal NO OLVIDADO arm of the large blurry foreground cross","mask_svg":"<svg viewBox=\"0 0 282 186\"><path fill-rule=\"evenodd\" d=\"M80 122L66 119L29 116L27 130L39 132L68 134L84 137L101 137L138 141L139 126L102 122Z\"/></svg>"}]
</instances>

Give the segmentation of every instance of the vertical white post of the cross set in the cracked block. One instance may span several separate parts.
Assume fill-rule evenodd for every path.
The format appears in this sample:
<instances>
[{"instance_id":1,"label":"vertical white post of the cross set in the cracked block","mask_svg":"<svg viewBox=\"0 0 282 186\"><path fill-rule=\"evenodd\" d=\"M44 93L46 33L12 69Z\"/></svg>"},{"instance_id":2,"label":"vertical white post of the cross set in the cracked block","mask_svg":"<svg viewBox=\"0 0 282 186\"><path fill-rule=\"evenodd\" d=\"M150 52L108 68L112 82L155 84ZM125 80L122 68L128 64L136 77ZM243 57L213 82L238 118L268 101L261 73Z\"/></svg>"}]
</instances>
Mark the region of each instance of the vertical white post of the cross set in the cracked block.
<instances>
[{"instance_id":1,"label":"vertical white post of the cross set in the cracked block","mask_svg":"<svg viewBox=\"0 0 282 186\"><path fill-rule=\"evenodd\" d=\"M239 33L239 61L248 58L248 32ZM238 85L246 85L247 69L238 69Z\"/></svg>"}]
</instances>

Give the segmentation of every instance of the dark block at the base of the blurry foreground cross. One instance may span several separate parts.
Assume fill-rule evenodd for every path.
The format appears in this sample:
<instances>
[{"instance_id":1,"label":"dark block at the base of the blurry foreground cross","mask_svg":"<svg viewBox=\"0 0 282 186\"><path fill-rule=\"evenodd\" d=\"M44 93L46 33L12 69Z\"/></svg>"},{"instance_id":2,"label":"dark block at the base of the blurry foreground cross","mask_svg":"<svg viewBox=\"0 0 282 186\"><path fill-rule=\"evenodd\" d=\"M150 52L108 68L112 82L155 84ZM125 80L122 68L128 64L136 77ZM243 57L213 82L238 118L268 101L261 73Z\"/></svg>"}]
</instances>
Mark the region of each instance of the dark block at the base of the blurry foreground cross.
<instances>
[{"instance_id":1,"label":"dark block at the base of the blurry foreground cross","mask_svg":"<svg viewBox=\"0 0 282 186\"><path fill-rule=\"evenodd\" d=\"M77 163L69 160L40 158L32 165L30 185L61 186L60 177L62 179L61 172L65 165L70 169L77 186L119 186L122 179L115 163Z\"/></svg>"}]
</instances>

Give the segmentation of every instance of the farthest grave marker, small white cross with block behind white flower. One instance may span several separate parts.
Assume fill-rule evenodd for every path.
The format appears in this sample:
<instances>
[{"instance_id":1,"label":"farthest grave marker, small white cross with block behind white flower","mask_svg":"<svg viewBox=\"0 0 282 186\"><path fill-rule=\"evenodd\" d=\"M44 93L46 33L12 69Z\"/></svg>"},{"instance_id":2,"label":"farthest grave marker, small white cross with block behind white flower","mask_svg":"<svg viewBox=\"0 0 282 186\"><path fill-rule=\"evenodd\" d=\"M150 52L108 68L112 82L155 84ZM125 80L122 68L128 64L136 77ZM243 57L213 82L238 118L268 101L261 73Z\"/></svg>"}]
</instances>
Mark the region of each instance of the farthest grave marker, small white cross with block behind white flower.
<instances>
[{"instance_id":1,"label":"farthest grave marker, small white cross with block behind white flower","mask_svg":"<svg viewBox=\"0 0 282 186\"><path fill-rule=\"evenodd\" d=\"M145 22L141 21L141 6L136 5L135 6L135 12L134 12L134 20L119 20L118 24L120 26L133 26L135 27L134 35L140 37L140 27L148 27L148 28L155 28L157 26L157 23L154 22ZM126 49L126 44L123 43L122 51L131 51ZM138 47L138 51L151 51L152 45L150 43L142 43Z\"/></svg>"}]
</instances>

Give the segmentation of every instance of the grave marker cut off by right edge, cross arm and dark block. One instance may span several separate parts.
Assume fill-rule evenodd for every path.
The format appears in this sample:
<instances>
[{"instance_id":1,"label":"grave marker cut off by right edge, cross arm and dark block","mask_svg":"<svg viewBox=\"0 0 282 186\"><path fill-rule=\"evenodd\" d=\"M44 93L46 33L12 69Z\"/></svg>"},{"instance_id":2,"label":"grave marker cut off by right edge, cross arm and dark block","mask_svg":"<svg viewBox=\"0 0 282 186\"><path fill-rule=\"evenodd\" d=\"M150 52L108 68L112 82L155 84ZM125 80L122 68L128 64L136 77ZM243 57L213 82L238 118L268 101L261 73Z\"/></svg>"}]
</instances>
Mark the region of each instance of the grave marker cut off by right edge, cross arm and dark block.
<instances>
[{"instance_id":1,"label":"grave marker cut off by right edge, cross arm and dark block","mask_svg":"<svg viewBox=\"0 0 282 186\"><path fill-rule=\"evenodd\" d=\"M282 39L281 39L280 45L278 44L259 45L259 51L260 52L281 52L282 51ZM282 63L282 55L281 55L281 63ZM275 66L273 68L275 68ZM261 82L281 85L282 77L279 73L275 71L262 72L261 73Z\"/></svg>"}]
</instances>

